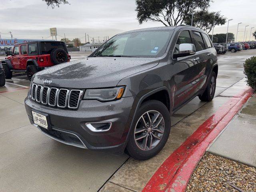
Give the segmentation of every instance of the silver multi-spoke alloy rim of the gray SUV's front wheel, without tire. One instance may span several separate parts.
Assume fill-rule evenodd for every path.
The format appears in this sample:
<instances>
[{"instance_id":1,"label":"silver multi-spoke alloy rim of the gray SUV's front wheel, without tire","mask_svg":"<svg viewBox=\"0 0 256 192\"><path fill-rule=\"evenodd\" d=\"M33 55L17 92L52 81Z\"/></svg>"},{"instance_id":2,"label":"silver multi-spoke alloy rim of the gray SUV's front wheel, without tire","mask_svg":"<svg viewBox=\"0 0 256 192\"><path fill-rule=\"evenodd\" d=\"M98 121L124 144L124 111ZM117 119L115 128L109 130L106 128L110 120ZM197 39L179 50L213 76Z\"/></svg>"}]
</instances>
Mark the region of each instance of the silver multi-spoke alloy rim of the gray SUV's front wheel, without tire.
<instances>
[{"instance_id":1,"label":"silver multi-spoke alloy rim of the gray SUV's front wheel, without tire","mask_svg":"<svg viewBox=\"0 0 256 192\"><path fill-rule=\"evenodd\" d=\"M164 118L156 110L150 110L140 116L134 131L134 140L141 150L156 147L164 134Z\"/></svg>"}]
</instances>

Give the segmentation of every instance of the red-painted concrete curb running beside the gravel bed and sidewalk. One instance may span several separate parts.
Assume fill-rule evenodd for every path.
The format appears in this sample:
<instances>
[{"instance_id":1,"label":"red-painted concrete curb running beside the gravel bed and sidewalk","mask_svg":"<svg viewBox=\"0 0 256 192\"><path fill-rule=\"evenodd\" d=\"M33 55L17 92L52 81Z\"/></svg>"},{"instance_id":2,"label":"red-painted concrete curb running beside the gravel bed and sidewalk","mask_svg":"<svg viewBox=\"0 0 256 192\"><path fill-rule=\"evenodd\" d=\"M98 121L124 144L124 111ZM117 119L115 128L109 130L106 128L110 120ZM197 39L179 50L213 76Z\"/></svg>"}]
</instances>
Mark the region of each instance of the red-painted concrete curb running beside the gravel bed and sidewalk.
<instances>
[{"instance_id":1,"label":"red-painted concrete curb running beside the gravel bed and sidewalk","mask_svg":"<svg viewBox=\"0 0 256 192\"><path fill-rule=\"evenodd\" d=\"M252 93L252 89L248 89L222 105L164 161L142 192L184 192L194 168L210 143L232 120Z\"/></svg>"}]
</instances>

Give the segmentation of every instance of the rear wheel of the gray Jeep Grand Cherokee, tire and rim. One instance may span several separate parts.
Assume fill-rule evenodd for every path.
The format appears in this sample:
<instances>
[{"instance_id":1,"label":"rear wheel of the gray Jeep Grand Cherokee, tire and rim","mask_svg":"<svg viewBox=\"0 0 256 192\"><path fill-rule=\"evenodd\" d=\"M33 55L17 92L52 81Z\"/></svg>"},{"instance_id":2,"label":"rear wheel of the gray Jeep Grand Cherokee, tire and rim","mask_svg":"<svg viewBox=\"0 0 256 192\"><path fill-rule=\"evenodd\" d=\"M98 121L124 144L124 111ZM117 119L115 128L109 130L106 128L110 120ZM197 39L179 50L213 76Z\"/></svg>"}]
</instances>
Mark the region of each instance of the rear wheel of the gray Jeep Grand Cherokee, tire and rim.
<instances>
[{"instance_id":1,"label":"rear wheel of the gray Jeep Grand Cherokee, tire and rim","mask_svg":"<svg viewBox=\"0 0 256 192\"><path fill-rule=\"evenodd\" d=\"M213 84L212 80L214 81L214 84ZM201 101L209 102L214 98L215 90L216 90L216 73L213 71L210 76L210 80L208 82L206 90L204 91L204 93L202 95L200 95L198 97Z\"/></svg>"}]
</instances>

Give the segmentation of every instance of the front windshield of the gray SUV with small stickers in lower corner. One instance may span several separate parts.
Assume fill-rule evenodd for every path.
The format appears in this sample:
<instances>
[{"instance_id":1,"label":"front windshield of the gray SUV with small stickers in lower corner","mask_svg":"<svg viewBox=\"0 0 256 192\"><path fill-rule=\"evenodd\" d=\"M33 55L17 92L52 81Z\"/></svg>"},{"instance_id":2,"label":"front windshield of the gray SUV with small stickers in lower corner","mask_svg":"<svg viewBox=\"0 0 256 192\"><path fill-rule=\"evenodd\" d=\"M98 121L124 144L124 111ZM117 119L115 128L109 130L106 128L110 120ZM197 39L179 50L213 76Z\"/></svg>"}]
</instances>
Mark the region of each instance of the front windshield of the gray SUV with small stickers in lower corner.
<instances>
[{"instance_id":1,"label":"front windshield of the gray SUV with small stickers in lower corner","mask_svg":"<svg viewBox=\"0 0 256 192\"><path fill-rule=\"evenodd\" d=\"M116 35L90 57L159 57L166 51L172 33L155 30Z\"/></svg>"}]
</instances>

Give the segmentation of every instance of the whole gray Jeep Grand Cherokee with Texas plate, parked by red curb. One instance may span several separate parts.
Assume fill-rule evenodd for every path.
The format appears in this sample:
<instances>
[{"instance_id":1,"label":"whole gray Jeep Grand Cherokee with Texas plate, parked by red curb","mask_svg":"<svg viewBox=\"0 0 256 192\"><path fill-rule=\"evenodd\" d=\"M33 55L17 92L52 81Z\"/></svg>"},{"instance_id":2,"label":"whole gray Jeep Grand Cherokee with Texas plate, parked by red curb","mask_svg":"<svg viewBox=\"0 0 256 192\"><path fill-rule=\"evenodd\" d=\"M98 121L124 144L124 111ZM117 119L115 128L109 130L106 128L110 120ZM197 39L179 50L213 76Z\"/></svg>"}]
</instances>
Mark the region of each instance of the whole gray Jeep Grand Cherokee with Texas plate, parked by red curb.
<instances>
[{"instance_id":1,"label":"whole gray Jeep Grand Cherokee with Texas plate, parked by red curb","mask_svg":"<svg viewBox=\"0 0 256 192\"><path fill-rule=\"evenodd\" d=\"M170 115L196 96L212 100L217 73L216 50L198 28L124 32L88 58L36 73L26 112L59 142L145 160L164 147Z\"/></svg>"}]
</instances>

